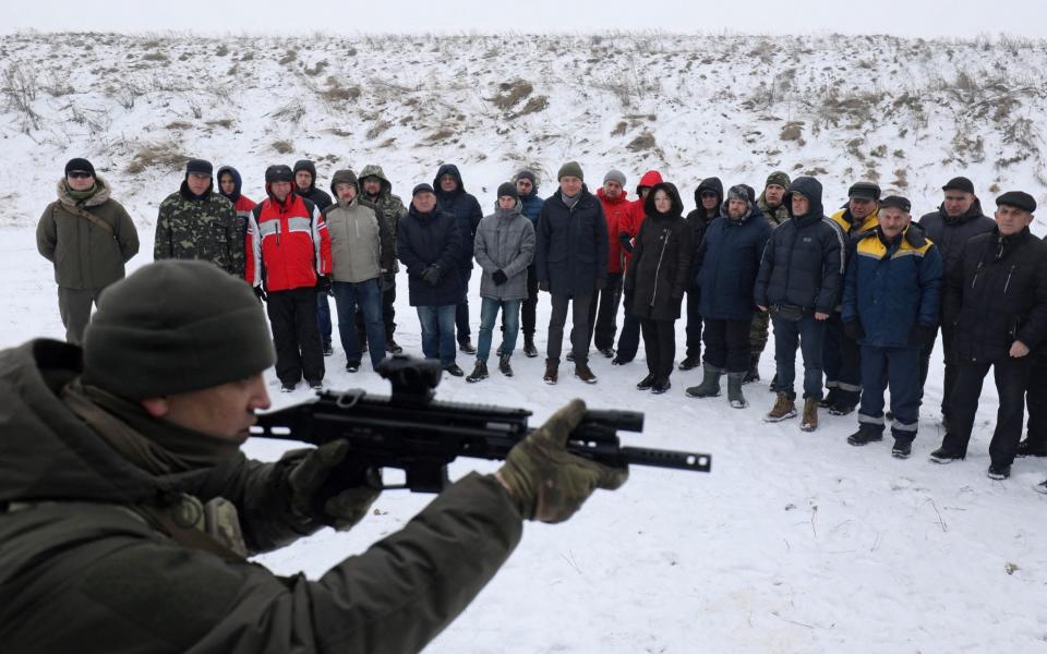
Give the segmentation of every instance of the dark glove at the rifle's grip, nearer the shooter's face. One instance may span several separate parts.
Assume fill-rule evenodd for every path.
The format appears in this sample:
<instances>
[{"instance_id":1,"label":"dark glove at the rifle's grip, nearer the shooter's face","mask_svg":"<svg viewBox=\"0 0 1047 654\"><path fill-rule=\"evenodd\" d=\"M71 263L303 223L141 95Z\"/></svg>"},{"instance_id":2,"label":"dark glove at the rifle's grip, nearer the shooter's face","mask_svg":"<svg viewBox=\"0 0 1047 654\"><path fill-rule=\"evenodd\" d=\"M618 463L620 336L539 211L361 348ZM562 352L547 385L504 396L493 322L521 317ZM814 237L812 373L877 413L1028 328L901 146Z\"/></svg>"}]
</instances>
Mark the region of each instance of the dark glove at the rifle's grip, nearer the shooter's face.
<instances>
[{"instance_id":1,"label":"dark glove at the rifle's grip, nearer the shooter's face","mask_svg":"<svg viewBox=\"0 0 1047 654\"><path fill-rule=\"evenodd\" d=\"M348 451L348 443L333 440L312 450L297 450L285 455L301 457L301 461L287 475L287 485L291 492L291 512L297 518L314 520L344 531L368 514L368 509L381 493L381 482L375 479L374 471L369 473L368 483L362 486L329 492L332 484L328 479Z\"/></svg>"}]
</instances>

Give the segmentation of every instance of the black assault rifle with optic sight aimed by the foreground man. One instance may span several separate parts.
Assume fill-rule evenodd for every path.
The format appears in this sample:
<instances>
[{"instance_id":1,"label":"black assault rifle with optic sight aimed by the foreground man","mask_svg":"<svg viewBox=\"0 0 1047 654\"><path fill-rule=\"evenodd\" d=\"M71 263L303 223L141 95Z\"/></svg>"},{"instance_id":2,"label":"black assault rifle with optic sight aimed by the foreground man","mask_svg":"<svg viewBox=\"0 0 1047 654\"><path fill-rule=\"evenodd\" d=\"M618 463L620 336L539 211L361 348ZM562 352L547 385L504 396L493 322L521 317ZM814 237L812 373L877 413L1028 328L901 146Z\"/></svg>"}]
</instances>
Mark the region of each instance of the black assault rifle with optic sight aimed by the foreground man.
<instances>
[{"instance_id":1,"label":"black assault rifle with optic sight aimed by the foreground man","mask_svg":"<svg viewBox=\"0 0 1047 654\"><path fill-rule=\"evenodd\" d=\"M404 471L405 483L385 488L438 493L449 484L447 464L458 457L505 459L531 429L526 409L435 401L440 362L397 354L378 373L393 385L390 397L360 389L320 391L306 402L258 415L252 433L264 438L323 445L349 441L342 465L333 474L369 483L375 471ZM606 465L653 465L709 472L711 457L690 452L622 447L617 429L641 432L637 411L590 410L571 433L567 450ZM374 482L370 482L374 483Z\"/></svg>"}]
</instances>

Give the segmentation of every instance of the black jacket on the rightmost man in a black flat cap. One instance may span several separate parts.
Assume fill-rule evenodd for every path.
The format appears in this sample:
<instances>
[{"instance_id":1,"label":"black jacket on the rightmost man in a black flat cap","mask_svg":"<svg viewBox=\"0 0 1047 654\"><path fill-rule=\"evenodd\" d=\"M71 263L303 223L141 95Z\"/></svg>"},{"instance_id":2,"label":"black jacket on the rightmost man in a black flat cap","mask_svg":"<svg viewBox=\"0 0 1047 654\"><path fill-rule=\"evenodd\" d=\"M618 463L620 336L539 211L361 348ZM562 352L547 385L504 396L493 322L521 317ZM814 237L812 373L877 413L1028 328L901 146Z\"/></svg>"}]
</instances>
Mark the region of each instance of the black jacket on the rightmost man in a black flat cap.
<instances>
[{"instance_id":1,"label":"black jacket on the rightmost man in a black flat cap","mask_svg":"<svg viewBox=\"0 0 1047 654\"><path fill-rule=\"evenodd\" d=\"M1028 228L967 241L946 277L942 320L962 361L1003 361L1015 340L1035 349L1047 336L1047 243Z\"/></svg>"}]
</instances>

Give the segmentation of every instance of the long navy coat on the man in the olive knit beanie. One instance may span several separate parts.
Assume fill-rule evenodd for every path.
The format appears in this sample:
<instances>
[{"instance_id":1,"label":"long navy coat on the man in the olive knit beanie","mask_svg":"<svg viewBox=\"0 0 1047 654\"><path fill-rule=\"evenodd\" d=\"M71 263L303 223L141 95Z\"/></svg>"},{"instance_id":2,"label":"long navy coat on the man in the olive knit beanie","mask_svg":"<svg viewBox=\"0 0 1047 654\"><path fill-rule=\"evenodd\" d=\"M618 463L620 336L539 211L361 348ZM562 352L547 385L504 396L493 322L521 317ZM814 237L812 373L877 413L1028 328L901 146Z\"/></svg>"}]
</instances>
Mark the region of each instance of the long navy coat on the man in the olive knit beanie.
<instances>
[{"instance_id":1,"label":"long navy coat on the man in the olive knit beanie","mask_svg":"<svg viewBox=\"0 0 1047 654\"><path fill-rule=\"evenodd\" d=\"M567 208L559 191L545 199L538 219L534 270L556 295L590 295L607 271L607 221L597 196L582 184Z\"/></svg>"}]
</instances>

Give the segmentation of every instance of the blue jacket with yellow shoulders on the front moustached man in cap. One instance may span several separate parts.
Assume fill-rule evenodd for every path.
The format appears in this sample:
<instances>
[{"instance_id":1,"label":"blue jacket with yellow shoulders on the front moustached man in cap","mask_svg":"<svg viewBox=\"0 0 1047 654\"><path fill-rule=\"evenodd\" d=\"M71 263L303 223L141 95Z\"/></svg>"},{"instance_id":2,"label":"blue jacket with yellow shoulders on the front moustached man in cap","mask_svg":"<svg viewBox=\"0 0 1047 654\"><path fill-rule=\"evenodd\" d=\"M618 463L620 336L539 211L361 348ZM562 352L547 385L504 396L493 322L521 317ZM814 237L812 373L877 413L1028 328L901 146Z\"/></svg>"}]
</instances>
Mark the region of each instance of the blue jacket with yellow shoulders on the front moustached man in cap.
<instances>
[{"instance_id":1,"label":"blue jacket with yellow shoulders on the front moustached man in cap","mask_svg":"<svg viewBox=\"0 0 1047 654\"><path fill-rule=\"evenodd\" d=\"M938 323L941 254L911 225L888 243L879 228L859 239L843 282L843 322L861 320L863 346L917 347L908 335L916 324Z\"/></svg>"}]
</instances>

